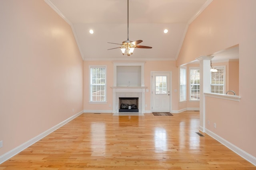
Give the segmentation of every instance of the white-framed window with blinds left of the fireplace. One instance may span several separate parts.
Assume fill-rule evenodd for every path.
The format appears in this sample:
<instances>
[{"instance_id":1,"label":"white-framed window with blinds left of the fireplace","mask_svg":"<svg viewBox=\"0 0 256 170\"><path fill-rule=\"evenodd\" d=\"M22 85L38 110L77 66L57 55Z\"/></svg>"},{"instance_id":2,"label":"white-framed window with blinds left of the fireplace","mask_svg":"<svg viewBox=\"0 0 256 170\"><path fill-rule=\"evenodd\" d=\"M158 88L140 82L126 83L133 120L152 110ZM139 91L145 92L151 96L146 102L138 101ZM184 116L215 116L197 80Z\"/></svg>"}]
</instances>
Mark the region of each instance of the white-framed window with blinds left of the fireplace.
<instances>
[{"instance_id":1,"label":"white-framed window with blinds left of the fireplace","mask_svg":"<svg viewBox=\"0 0 256 170\"><path fill-rule=\"evenodd\" d=\"M90 102L106 102L106 67L90 66Z\"/></svg>"}]
</instances>

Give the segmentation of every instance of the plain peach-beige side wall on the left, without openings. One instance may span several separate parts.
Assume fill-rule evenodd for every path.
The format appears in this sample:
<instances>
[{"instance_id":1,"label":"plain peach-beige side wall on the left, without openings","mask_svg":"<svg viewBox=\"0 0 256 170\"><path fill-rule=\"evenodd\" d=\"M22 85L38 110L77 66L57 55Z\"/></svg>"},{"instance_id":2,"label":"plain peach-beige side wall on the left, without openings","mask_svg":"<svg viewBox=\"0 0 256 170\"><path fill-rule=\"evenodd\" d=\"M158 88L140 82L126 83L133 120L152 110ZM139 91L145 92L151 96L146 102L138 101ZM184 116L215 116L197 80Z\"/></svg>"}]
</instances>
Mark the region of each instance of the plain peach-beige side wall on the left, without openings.
<instances>
[{"instance_id":1,"label":"plain peach-beige side wall on the left, without openings","mask_svg":"<svg viewBox=\"0 0 256 170\"><path fill-rule=\"evenodd\" d=\"M44 0L1 0L0 11L1 156L83 110L83 62Z\"/></svg>"}]
</instances>

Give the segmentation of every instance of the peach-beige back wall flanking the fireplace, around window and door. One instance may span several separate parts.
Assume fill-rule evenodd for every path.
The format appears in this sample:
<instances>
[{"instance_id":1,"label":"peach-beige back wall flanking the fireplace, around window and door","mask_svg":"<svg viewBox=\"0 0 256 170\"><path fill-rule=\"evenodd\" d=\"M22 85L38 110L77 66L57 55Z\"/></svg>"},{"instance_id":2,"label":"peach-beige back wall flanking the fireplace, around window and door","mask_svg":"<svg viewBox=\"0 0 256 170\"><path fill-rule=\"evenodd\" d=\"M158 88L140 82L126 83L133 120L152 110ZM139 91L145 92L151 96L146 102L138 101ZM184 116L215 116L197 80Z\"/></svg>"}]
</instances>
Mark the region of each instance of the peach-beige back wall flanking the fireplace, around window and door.
<instances>
[{"instance_id":1,"label":"peach-beige back wall flanking the fireplace, around window and door","mask_svg":"<svg viewBox=\"0 0 256 170\"><path fill-rule=\"evenodd\" d=\"M89 90L90 90L90 65L106 65L107 66L107 102L106 104L89 104ZM171 71L172 72L172 110L178 110L178 67L176 61L146 61L144 64L144 85L149 89L151 87L150 72L151 71ZM114 82L114 64L112 61L84 61L84 110L102 110L112 111L112 86ZM150 92L145 93L146 111L150 111Z\"/></svg>"}]
</instances>

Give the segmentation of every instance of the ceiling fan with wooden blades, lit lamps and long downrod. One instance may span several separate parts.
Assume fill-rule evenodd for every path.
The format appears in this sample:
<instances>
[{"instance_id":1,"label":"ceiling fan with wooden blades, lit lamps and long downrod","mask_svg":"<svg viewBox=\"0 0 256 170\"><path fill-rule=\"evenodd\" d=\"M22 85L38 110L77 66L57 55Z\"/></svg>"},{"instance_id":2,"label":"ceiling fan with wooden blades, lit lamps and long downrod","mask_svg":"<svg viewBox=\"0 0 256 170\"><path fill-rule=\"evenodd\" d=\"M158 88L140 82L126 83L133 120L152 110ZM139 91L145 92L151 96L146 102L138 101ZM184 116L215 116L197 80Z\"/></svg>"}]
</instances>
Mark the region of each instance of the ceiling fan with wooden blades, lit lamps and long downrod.
<instances>
[{"instance_id":1,"label":"ceiling fan with wooden blades, lit lamps and long downrod","mask_svg":"<svg viewBox=\"0 0 256 170\"><path fill-rule=\"evenodd\" d=\"M128 56L132 55L132 53L134 51L134 48L152 49L152 47L138 45L141 42L142 42L142 40L137 40L137 41L130 41L129 40L129 0L127 0L127 40L123 41L122 44L111 43L111 44L121 45L120 47L116 47L116 48L112 48L112 49L121 48L121 51L122 51L123 55L128 55ZM108 49L108 50L112 50L112 49Z\"/></svg>"}]
</instances>

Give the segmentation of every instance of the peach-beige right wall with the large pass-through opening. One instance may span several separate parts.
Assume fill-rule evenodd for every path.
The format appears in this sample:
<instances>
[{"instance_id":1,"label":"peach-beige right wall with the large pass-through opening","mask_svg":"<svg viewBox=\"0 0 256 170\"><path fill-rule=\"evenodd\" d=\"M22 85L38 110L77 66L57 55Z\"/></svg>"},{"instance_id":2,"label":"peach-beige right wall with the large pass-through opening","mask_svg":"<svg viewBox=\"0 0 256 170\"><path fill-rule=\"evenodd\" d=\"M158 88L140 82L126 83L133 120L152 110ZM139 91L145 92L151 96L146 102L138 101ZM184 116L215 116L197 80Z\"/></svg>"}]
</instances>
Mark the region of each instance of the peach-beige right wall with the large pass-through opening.
<instances>
[{"instance_id":1,"label":"peach-beige right wall with the large pass-through opening","mask_svg":"<svg viewBox=\"0 0 256 170\"><path fill-rule=\"evenodd\" d=\"M206 126L256 157L256 1L214 0L188 27L177 66L239 44L240 102L206 98ZM215 107L213 107L215 106ZM213 127L216 122L217 128Z\"/></svg>"}]
</instances>

